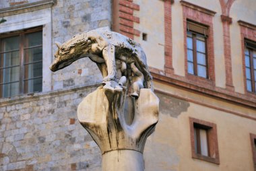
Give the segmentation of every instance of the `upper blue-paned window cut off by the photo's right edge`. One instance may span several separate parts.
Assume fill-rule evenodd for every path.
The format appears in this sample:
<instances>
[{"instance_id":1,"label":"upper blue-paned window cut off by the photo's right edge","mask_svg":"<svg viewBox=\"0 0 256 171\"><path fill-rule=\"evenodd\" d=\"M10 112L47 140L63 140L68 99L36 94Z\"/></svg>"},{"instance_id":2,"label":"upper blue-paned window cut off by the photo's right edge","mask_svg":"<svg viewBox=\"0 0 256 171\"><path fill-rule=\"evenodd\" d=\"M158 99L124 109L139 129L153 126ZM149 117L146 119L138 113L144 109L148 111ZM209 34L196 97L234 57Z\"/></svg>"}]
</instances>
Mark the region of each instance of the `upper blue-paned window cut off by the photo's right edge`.
<instances>
[{"instance_id":1,"label":"upper blue-paned window cut off by the photo's right edge","mask_svg":"<svg viewBox=\"0 0 256 171\"><path fill-rule=\"evenodd\" d=\"M245 76L248 92L256 92L256 42L245 40Z\"/></svg>"}]
</instances>

